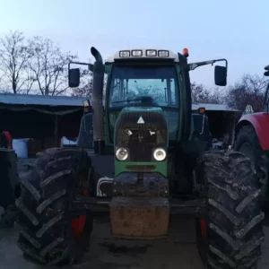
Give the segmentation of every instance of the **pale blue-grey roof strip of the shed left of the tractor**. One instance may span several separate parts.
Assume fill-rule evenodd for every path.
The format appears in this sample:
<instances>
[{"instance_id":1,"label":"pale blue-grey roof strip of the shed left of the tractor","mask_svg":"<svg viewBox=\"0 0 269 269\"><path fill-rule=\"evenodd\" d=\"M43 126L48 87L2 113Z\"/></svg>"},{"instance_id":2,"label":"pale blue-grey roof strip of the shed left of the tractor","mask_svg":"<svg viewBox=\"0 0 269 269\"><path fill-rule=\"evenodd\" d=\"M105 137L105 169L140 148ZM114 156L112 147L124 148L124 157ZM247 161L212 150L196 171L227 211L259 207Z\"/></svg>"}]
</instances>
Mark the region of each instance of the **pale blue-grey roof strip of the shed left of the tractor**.
<instances>
[{"instance_id":1,"label":"pale blue-grey roof strip of the shed left of the tractor","mask_svg":"<svg viewBox=\"0 0 269 269\"><path fill-rule=\"evenodd\" d=\"M81 107L85 97L48 96L34 94L1 93L0 103L7 105L41 105L41 106L70 106Z\"/></svg>"}]
</instances>

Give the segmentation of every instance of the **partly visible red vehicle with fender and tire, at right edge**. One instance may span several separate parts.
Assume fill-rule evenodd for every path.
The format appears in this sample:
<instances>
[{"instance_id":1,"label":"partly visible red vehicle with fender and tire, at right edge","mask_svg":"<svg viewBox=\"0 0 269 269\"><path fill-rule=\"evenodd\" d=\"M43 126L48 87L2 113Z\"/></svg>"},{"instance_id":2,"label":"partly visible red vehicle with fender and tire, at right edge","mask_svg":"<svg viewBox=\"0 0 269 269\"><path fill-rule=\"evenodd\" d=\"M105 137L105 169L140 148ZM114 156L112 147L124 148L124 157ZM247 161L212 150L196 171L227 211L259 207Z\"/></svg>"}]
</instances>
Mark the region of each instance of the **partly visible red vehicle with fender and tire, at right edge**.
<instances>
[{"instance_id":1,"label":"partly visible red vehicle with fender and tire, at right edge","mask_svg":"<svg viewBox=\"0 0 269 269\"><path fill-rule=\"evenodd\" d=\"M269 65L265 66L265 76L269 76ZM263 110L264 112L247 114L239 119L234 150L245 153L255 167L264 194L265 213L269 216L269 83Z\"/></svg>"}]
</instances>

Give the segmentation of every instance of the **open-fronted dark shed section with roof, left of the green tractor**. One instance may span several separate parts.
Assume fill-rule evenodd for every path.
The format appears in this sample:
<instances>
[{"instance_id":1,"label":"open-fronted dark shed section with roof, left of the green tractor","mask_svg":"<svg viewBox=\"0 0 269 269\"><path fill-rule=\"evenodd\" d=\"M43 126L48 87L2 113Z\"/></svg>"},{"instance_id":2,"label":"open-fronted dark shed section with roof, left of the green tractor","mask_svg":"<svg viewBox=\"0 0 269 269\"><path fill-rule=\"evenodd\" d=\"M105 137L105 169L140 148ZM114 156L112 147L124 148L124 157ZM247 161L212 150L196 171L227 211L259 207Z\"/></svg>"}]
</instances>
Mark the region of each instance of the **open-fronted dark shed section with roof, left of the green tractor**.
<instances>
[{"instance_id":1,"label":"open-fronted dark shed section with roof, left of the green tractor","mask_svg":"<svg viewBox=\"0 0 269 269\"><path fill-rule=\"evenodd\" d=\"M14 138L33 138L36 144L42 143L35 145L39 150L58 146L59 137L77 136L82 100L71 96L0 94L0 130L9 130Z\"/></svg>"}]
</instances>

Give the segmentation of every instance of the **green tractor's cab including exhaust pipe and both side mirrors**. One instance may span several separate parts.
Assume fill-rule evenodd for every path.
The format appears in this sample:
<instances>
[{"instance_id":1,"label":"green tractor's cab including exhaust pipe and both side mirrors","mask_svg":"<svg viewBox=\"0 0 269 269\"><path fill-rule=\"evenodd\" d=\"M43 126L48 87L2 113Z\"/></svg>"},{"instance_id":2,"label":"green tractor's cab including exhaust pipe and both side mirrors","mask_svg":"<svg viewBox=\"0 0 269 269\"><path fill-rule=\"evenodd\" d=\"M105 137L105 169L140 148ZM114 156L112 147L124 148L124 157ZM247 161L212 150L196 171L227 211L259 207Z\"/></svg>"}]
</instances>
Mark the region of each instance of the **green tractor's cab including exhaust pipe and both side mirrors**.
<instances>
[{"instance_id":1,"label":"green tractor's cab including exhaust pipe and both side mirrors","mask_svg":"<svg viewBox=\"0 0 269 269\"><path fill-rule=\"evenodd\" d=\"M91 53L96 58L94 65L88 65L93 72L91 107L94 149L97 153L102 152L105 146L113 148L117 119L126 107L161 108L167 121L169 145L187 141L193 131L189 71L201 65L224 61L226 66L215 66L214 78L216 85L226 85L225 59L187 64L187 48L182 54L164 49L120 50L110 56L105 64L95 48L91 48ZM104 74L108 77L105 96ZM79 68L69 69L70 87L78 86L79 76Z\"/></svg>"}]
</instances>

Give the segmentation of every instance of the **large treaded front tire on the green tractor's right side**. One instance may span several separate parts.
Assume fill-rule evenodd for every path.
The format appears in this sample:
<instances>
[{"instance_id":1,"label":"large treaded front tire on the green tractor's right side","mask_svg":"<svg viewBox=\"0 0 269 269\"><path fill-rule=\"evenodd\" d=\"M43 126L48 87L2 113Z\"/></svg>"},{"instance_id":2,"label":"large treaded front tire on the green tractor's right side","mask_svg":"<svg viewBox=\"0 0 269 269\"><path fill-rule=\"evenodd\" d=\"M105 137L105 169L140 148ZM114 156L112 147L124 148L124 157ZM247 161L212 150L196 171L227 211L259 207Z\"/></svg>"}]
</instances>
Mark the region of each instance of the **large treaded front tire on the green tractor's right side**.
<instances>
[{"instance_id":1,"label":"large treaded front tire on the green tractor's right side","mask_svg":"<svg viewBox=\"0 0 269 269\"><path fill-rule=\"evenodd\" d=\"M241 152L204 152L197 163L204 182L206 232L196 222L198 250L208 269L257 268L264 241L255 170Z\"/></svg>"}]
</instances>

